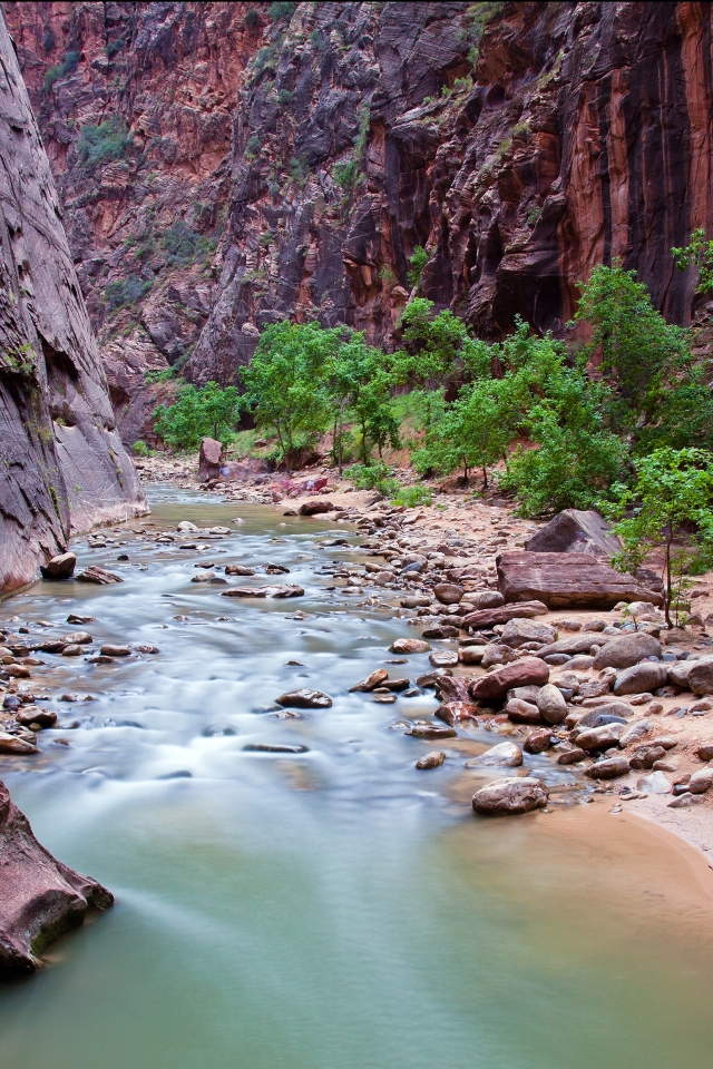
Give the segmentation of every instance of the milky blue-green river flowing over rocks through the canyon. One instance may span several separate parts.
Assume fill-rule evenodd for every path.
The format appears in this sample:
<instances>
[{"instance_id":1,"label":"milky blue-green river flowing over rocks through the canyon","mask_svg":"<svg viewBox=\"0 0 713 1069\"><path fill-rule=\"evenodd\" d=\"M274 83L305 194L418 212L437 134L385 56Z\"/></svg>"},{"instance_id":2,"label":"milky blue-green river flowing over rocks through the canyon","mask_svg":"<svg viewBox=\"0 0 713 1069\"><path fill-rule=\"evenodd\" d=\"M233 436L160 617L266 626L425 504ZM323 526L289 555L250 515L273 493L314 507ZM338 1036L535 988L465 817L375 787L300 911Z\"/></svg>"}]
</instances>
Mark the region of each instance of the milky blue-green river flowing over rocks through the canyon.
<instances>
[{"instance_id":1,"label":"milky blue-green river flowing over rocks through the canyon","mask_svg":"<svg viewBox=\"0 0 713 1069\"><path fill-rule=\"evenodd\" d=\"M80 543L80 565L125 582L42 585L2 607L61 624L52 635L91 615L95 644L160 653L46 657L48 689L95 700L51 703L80 726L2 765L40 841L117 904L0 989L0 1067L710 1069L705 862L606 801L475 818L458 751L417 772L428 744L391 727L432 713L432 692L348 694L414 634L326 573L358 559L354 533L168 492L153 508L159 527L245 522L204 551L128 534L125 565ZM222 598L189 582L198 559L284 563L267 581L305 597ZM297 686L332 708L276 716Z\"/></svg>"}]
</instances>

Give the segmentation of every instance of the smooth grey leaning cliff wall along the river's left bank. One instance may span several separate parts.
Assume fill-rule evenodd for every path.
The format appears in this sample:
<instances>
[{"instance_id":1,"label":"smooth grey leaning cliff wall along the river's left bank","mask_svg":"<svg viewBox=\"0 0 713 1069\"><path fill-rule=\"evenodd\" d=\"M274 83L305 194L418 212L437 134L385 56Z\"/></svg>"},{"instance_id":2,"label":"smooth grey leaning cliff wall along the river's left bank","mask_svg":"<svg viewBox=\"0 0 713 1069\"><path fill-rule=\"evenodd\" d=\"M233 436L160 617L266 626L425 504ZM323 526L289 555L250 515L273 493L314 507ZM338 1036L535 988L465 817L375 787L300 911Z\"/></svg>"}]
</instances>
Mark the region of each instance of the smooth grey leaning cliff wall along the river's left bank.
<instances>
[{"instance_id":1,"label":"smooth grey leaning cliff wall along the river's left bank","mask_svg":"<svg viewBox=\"0 0 713 1069\"><path fill-rule=\"evenodd\" d=\"M146 511L0 17L0 594L71 530Z\"/></svg>"}]
</instances>

